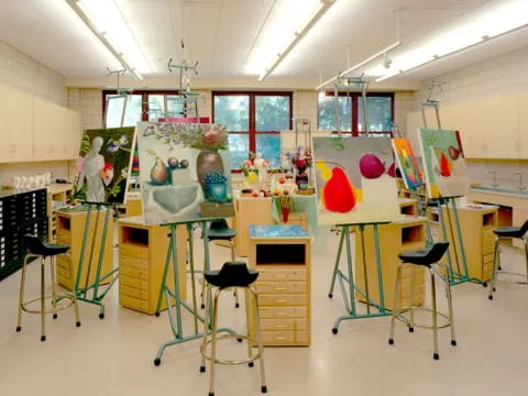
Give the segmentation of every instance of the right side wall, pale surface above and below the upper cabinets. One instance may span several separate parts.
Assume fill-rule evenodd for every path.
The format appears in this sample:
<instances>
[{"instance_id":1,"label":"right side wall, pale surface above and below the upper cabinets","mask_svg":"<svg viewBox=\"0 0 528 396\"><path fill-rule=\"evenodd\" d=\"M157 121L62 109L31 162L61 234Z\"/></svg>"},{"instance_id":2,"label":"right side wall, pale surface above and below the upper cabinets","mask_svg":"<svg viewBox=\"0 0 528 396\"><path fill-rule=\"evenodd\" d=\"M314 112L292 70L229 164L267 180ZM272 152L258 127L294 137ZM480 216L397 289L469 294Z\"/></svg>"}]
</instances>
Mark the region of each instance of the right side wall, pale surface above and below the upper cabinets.
<instances>
[{"instance_id":1,"label":"right side wall, pale surface above and below the upper cabinets","mask_svg":"<svg viewBox=\"0 0 528 396\"><path fill-rule=\"evenodd\" d=\"M425 81L424 86L429 86L431 80L446 82L442 92L438 92L433 97L433 99L440 100L440 118L442 117L442 105L457 105L477 98L528 91L528 46L433 77ZM420 103L428 94L426 88L415 91L410 110L420 110ZM524 142L528 142L528 131L522 132L522 139L525 139ZM514 174L521 172L524 184L528 185L528 158L472 160L469 162L469 174L472 182L492 184L493 175L490 172L497 172L497 182L504 187L518 186L518 176Z\"/></svg>"}]
</instances>

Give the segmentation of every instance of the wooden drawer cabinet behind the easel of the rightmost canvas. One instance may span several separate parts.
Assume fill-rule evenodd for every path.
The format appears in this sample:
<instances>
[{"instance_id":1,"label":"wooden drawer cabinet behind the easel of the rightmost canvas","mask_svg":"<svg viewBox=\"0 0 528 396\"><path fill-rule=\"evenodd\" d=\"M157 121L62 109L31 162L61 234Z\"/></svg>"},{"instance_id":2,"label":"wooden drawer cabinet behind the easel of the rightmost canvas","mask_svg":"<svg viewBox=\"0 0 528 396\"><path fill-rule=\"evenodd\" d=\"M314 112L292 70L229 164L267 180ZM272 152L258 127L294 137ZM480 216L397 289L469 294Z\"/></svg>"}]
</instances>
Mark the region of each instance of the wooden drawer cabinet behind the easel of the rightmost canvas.
<instances>
[{"instance_id":1,"label":"wooden drawer cabinet behind the easel of the rightmost canvas","mask_svg":"<svg viewBox=\"0 0 528 396\"><path fill-rule=\"evenodd\" d=\"M457 208L459 215L460 228L462 230L462 243L464 245L465 262L470 277L477 278L481 282L488 282L493 271L493 254L495 251L495 235L493 229L497 226L497 208L493 206L464 206ZM430 208L428 215L433 221L438 221L438 208ZM443 216L448 221L448 210L443 208ZM450 208L449 216L455 231L455 223L452 210ZM449 231L449 223L446 224L448 233L448 242L450 243L449 252L451 255L452 267L455 272L463 274L463 263L460 243L454 233L454 241ZM435 241L442 241L443 237L439 224L433 227ZM457 249L457 251L455 251ZM457 265L457 256L459 257L459 266ZM443 263L448 263L447 255L442 258Z\"/></svg>"}]
</instances>

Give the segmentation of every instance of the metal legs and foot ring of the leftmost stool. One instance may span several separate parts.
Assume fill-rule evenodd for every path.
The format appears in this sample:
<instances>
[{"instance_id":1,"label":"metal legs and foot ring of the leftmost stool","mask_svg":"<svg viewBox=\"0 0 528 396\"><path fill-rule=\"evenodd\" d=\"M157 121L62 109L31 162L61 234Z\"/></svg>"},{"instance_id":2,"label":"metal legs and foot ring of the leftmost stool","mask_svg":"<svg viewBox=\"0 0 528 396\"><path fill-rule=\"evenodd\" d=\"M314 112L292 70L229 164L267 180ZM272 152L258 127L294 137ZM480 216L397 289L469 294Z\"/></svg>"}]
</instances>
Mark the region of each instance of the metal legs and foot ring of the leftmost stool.
<instances>
[{"instance_id":1,"label":"metal legs and foot ring of the leftmost stool","mask_svg":"<svg viewBox=\"0 0 528 396\"><path fill-rule=\"evenodd\" d=\"M36 257L41 258L41 290L40 290L40 296L36 298L33 298L31 300L24 301L24 293L25 293L25 277L26 277L26 271L28 271L28 260L31 257ZM30 314L40 314L41 315L41 341L46 341L46 314L53 314L53 318L57 318L57 312L59 310L66 309L69 306L74 306L75 309L75 323L76 327L80 327L80 319L79 319L79 307L77 304L77 295L74 290L72 295L63 295L58 296L57 290L56 290L56 278L55 278L55 265L54 265L54 256L50 257L51 261L51 272L52 272L52 296L46 297L45 295L45 260L46 257L43 257L41 255L36 254L28 254L24 258L23 265L22 265L22 277L20 282L20 296L19 296L19 315L18 315L18 321L16 321L16 331L22 330L22 311L30 312ZM52 300L52 309L46 309L46 298ZM69 304L65 305L64 307L58 307L57 302L61 299L68 299ZM31 302L38 301L40 302L40 309L30 309L29 305Z\"/></svg>"}]
</instances>

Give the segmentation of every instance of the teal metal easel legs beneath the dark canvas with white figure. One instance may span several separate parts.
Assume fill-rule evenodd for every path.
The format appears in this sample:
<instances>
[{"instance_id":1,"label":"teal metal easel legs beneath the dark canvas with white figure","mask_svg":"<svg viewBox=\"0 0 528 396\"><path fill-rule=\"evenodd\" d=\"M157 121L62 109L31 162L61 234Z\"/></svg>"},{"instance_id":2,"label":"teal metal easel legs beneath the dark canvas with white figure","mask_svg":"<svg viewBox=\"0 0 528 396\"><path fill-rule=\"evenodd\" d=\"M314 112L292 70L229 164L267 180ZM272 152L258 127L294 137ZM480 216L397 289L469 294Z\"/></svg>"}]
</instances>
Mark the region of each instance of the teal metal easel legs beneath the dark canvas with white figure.
<instances>
[{"instance_id":1,"label":"teal metal easel legs beneath the dark canvas with white figure","mask_svg":"<svg viewBox=\"0 0 528 396\"><path fill-rule=\"evenodd\" d=\"M107 241L107 233L108 233L108 222L110 220L110 216L112 213L112 205L109 202L86 202L88 207L88 212L86 215L86 223L85 223L85 231L82 234L82 244L80 248L80 257L79 257L79 267L77 270L77 277L75 279L75 288L74 293L77 294L77 299L80 301L85 301L88 304L94 304L99 306L99 318L103 319L105 318L105 304L102 304L102 300L105 296L108 294L110 288L113 286L116 280L118 279L118 276L113 276L112 280L110 282L109 285L106 286L105 290L99 294L99 287L101 286L101 283L105 282L107 278L112 276L114 273L118 272L119 268L113 268L109 273L101 275L101 266L102 266L102 261L105 257L105 244ZM85 264L85 255L86 255L86 244L88 241L89 232L90 232L90 220L91 220L91 212L92 210L97 210L97 216L96 216L96 223L94 228L94 234L91 237L91 246L90 246L90 253L89 253L89 258L88 258L88 270L86 272L86 279L85 279L85 285L84 287L80 287L80 277L82 274L82 267ZM101 235L101 243L99 246L99 256L97 261L97 268L96 268L96 278L91 285L89 285L89 278L90 278L90 273L91 273L91 261L94 257L94 252L96 250L96 239L99 232L99 213L101 210L106 210L105 213L105 223L102 224L102 235ZM92 290L91 297L88 297L88 292Z\"/></svg>"}]
</instances>

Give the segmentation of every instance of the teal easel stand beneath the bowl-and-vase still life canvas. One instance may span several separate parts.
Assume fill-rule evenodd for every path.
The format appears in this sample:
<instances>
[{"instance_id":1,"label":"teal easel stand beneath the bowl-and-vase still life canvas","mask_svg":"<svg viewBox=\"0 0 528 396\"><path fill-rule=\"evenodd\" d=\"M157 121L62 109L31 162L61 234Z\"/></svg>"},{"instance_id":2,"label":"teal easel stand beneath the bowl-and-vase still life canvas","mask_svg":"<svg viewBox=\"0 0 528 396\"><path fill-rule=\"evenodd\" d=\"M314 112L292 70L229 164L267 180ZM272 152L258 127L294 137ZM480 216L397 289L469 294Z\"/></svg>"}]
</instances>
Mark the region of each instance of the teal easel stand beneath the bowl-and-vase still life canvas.
<instances>
[{"instance_id":1,"label":"teal easel stand beneath the bowl-and-vase still life canvas","mask_svg":"<svg viewBox=\"0 0 528 396\"><path fill-rule=\"evenodd\" d=\"M196 284L195 284L195 262L194 262L194 254L193 254L193 226L195 223L201 223L204 229L204 241L208 241L208 221L219 220L221 218L197 218L188 221L179 221L173 223L162 224L164 227L169 228L168 237L170 238L168 249L167 249L167 258L165 260L165 266L163 270L163 277L162 277L162 285L160 287L160 296L157 298L157 307L156 307L156 317L160 316L160 309L162 306L162 298L165 296L167 301L167 312L168 312L168 321L170 324L170 330L173 331L174 339L164 342L154 359L154 365L158 366L162 363L162 355L163 352L167 346L176 345L186 341L196 340L204 337L204 333L198 331L198 320L204 322L204 317L198 315L197 309L197 301L196 301ZM186 301L182 300L179 296L179 274L178 274L178 258L177 258L177 245L176 245L176 227L178 224L185 224L188 233L188 249L189 249L189 266L190 266L190 277L191 277L191 287L193 287L193 307L190 307ZM168 266L173 265L173 273L174 273L174 292L167 285L167 273ZM209 262L209 244L204 243L204 272L208 272L210 268ZM175 304L175 312L172 310L170 298L174 299ZM183 318L182 318L182 308L185 308L188 312L190 312L194 317L194 327L195 332L190 336L184 336L183 331ZM211 315L211 312L206 312L206 315ZM211 323L211 321L209 321ZM234 331L228 328L218 329L219 332L229 332L234 334Z\"/></svg>"}]
</instances>

